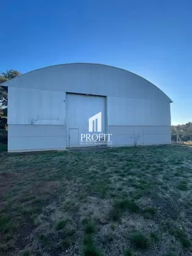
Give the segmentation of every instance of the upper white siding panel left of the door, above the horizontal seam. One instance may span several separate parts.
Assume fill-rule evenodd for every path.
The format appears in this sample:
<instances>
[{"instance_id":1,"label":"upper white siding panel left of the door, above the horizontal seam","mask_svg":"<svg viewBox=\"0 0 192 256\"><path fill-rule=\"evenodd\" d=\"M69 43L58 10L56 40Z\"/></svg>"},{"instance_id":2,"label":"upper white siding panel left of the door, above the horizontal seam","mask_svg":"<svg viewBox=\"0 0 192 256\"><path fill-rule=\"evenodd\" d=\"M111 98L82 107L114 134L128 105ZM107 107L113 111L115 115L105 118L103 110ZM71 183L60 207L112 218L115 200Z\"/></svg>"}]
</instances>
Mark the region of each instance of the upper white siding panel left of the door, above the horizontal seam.
<instances>
[{"instance_id":1,"label":"upper white siding panel left of the door, above the horizontal seam","mask_svg":"<svg viewBox=\"0 0 192 256\"><path fill-rule=\"evenodd\" d=\"M65 93L9 88L8 124L65 124Z\"/></svg>"}]
</instances>

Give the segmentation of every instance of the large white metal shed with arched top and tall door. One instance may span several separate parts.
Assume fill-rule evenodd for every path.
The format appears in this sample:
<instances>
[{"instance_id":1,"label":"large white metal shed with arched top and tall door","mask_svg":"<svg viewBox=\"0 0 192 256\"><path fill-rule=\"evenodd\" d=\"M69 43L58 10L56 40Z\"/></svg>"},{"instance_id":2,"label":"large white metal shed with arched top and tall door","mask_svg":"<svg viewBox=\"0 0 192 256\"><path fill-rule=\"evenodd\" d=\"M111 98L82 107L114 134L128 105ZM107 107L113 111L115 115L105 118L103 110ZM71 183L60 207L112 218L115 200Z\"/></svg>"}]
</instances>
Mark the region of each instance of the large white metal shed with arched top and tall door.
<instances>
[{"instance_id":1,"label":"large white metal shed with arched top and tall door","mask_svg":"<svg viewBox=\"0 0 192 256\"><path fill-rule=\"evenodd\" d=\"M8 90L8 151L82 145L88 119L102 112L108 146L171 143L171 99L148 80L113 66L48 66L2 84ZM96 145L96 143L94 144Z\"/></svg>"}]
</instances>

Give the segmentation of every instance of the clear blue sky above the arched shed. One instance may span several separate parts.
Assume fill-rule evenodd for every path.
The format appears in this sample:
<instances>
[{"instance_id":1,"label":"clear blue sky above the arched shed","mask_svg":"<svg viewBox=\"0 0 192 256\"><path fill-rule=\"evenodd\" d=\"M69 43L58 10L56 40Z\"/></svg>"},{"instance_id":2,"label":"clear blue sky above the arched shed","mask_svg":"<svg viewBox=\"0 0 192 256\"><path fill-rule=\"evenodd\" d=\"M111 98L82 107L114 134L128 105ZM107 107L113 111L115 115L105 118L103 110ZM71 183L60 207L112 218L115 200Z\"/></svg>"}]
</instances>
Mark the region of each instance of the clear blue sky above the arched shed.
<instances>
[{"instance_id":1,"label":"clear blue sky above the arched shed","mask_svg":"<svg viewBox=\"0 0 192 256\"><path fill-rule=\"evenodd\" d=\"M93 62L153 82L192 121L191 0L1 0L0 71Z\"/></svg>"}]
</instances>

